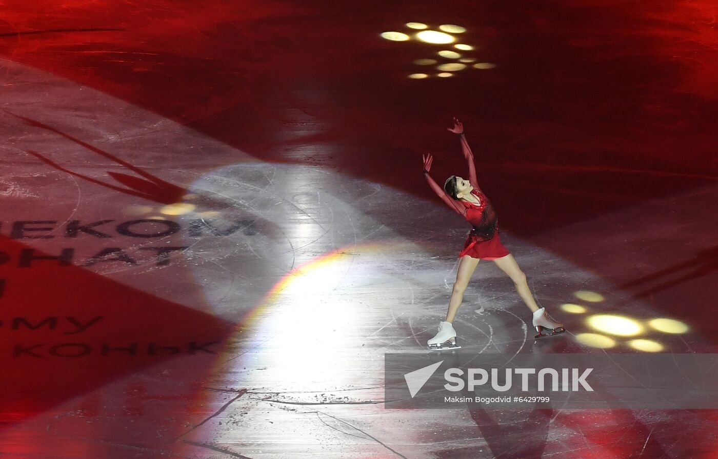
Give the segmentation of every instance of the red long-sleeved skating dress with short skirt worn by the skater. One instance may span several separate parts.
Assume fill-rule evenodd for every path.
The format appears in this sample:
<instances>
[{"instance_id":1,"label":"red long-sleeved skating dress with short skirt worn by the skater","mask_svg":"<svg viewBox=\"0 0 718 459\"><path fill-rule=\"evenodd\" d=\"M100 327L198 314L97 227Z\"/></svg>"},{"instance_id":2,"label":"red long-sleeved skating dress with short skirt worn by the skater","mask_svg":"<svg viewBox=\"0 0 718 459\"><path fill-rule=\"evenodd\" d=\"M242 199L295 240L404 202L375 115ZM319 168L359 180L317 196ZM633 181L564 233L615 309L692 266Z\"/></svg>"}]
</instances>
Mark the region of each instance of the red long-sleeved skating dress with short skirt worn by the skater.
<instances>
[{"instance_id":1,"label":"red long-sleeved skating dress with short skirt worn by the skater","mask_svg":"<svg viewBox=\"0 0 718 459\"><path fill-rule=\"evenodd\" d=\"M462 138L462 142L466 142ZM434 193L437 193L439 198L442 198L444 203L456 210L462 217L466 219L472 225L472 230L469 236L466 238L464 249L459 254L459 257L468 255L472 258L495 260L510 254L503 244L498 234L498 218L493 210L490 200L486 198L486 195L482 193L479 188L479 182L476 178L476 169L474 165L474 156L471 150L465 144L465 158L469 165L469 182L474 188L471 190L471 194L478 198L479 203L470 203L464 200L454 200L451 196L444 192L444 189L440 187L437 182L426 172L426 181L429 182L429 186L432 187Z\"/></svg>"}]
</instances>

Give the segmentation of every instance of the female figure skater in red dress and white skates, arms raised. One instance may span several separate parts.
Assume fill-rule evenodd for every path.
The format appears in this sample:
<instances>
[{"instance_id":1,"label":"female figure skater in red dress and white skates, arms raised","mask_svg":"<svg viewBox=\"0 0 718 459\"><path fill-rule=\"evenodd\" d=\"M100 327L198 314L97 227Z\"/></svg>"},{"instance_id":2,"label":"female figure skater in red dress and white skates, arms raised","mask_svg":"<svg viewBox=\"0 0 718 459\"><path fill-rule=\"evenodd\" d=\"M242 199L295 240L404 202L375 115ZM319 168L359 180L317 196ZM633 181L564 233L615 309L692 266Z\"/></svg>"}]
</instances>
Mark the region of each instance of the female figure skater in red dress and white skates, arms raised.
<instances>
[{"instance_id":1,"label":"female figure skater in red dress and white skates, arms raised","mask_svg":"<svg viewBox=\"0 0 718 459\"><path fill-rule=\"evenodd\" d=\"M452 323L454 322L454 317L456 317L457 310L461 306L469 279L474 274L480 259L493 261L513 280L521 300L533 312L533 326L538 332L536 338L563 333L566 331L564 324L556 322L546 312L546 308L539 308L536 305L536 301L533 300L533 295L526 282L526 274L523 274L516 260L501 244L498 218L496 218L496 213L490 201L479 188L479 183L476 179L474 155L464 136L463 124L454 118L454 127L447 129L459 135L464 157L469 164L469 179L466 180L452 175L444 182L444 189L442 190L437 182L434 182L432 176L429 175L429 170L432 169L432 162L434 161L431 154L422 155L424 159L424 177L426 177L426 182L429 182L429 186L432 187L434 193L437 193L444 203L447 203L450 208L456 210L457 213L471 223L473 228L466 239L464 249L459 254L459 269L456 273L456 282L454 282L454 289L452 289L451 300L449 300L446 320L439 323L439 333L428 341L429 348L434 350L460 348L456 342L456 330L454 330ZM541 332L544 329L551 330L551 333L549 335L542 334Z\"/></svg>"}]
</instances>

